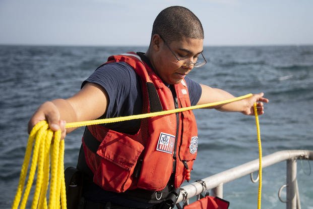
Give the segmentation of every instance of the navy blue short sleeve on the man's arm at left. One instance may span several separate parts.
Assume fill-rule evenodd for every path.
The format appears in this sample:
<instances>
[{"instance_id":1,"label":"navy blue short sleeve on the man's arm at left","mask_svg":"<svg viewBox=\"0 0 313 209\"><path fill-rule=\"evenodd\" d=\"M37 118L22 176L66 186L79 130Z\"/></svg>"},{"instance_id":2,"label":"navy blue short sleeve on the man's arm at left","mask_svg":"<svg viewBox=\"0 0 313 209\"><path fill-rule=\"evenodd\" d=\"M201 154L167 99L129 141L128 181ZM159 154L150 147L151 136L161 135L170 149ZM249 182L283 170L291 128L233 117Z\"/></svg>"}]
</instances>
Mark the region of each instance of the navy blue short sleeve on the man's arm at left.
<instances>
[{"instance_id":1,"label":"navy blue short sleeve on the man's arm at left","mask_svg":"<svg viewBox=\"0 0 313 209\"><path fill-rule=\"evenodd\" d=\"M106 114L101 118L114 118L134 114L138 112L134 107L142 106L141 86L138 79L131 66L124 62L116 62L98 68L82 86L87 82L100 85L109 97Z\"/></svg>"}]
</instances>

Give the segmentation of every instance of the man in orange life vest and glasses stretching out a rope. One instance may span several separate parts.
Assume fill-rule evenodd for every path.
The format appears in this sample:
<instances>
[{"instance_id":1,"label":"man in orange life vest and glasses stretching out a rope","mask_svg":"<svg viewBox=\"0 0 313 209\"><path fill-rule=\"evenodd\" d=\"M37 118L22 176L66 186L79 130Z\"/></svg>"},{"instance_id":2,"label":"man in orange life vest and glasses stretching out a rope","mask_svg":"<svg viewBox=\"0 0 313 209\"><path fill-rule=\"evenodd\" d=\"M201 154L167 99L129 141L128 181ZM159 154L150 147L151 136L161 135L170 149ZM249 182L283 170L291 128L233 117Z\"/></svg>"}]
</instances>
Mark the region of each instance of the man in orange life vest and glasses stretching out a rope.
<instances>
[{"instance_id":1,"label":"man in orange life vest and glasses stretching out a rope","mask_svg":"<svg viewBox=\"0 0 313 209\"><path fill-rule=\"evenodd\" d=\"M66 122L138 115L221 101L234 96L187 77L207 63L204 31L189 9L162 10L153 23L146 53L108 58L67 99L44 102L29 121L61 129ZM223 112L264 114L263 93L213 107ZM211 108L212 109L212 108ZM197 155L192 111L85 128L77 168L84 173L81 208L165 208L162 204L184 180Z\"/></svg>"}]
</instances>

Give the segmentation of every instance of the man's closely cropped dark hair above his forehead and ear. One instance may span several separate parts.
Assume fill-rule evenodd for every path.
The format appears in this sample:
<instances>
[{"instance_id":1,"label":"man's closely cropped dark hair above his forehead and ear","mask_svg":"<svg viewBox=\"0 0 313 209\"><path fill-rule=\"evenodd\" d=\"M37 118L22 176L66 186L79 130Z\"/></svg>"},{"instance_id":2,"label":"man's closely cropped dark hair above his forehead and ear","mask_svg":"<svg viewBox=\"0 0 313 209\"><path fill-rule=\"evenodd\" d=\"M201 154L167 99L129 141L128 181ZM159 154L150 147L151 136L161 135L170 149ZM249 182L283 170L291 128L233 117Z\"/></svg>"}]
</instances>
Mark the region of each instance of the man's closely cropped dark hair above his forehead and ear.
<instances>
[{"instance_id":1,"label":"man's closely cropped dark hair above his forehead and ear","mask_svg":"<svg viewBox=\"0 0 313 209\"><path fill-rule=\"evenodd\" d=\"M151 38L159 34L168 43L182 37L204 39L203 27L198 17L189 9L173 6L162 10L155 18Z\"/></svg>"}]
</instances>

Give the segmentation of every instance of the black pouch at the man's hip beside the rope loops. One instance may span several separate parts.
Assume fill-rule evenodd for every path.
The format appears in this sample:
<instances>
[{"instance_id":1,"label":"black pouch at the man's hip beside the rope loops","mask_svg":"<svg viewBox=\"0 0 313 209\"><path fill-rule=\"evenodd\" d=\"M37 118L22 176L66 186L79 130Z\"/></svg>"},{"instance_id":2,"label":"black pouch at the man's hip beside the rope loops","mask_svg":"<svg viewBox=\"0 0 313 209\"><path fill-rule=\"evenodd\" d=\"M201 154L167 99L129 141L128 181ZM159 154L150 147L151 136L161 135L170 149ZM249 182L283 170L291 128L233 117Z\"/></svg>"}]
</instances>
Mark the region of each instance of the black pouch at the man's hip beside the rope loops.
<instances>
[{"instance_id":1,"label":"black pouch at the man's hip beside the rope loops","mask_svg":"<svg viewBox=\"0 0 313 209\"><path fill-rule=\"evenodd\" d=\"M64 171L67 194L67 208L78 208L83 192L83 173L75 167L68 167Z\"/></svg>"}]
</instances>

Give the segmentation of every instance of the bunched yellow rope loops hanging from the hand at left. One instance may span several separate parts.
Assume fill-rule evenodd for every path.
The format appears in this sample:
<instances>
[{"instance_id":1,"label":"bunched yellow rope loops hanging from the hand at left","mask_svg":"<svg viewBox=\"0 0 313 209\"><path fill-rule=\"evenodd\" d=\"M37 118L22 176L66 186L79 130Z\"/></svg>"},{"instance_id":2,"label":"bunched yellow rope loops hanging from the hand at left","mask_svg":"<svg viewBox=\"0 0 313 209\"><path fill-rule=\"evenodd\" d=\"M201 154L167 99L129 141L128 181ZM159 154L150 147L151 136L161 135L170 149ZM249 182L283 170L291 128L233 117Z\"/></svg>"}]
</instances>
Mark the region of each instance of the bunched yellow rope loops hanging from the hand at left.
<instances>
[{"instance_id":1,"label":"bunched yellow rope loops hanging from the hand at left","mask_svg":"<svg viewBox=\"0 0 313 209\"><path fill-rule=\"evenodd\" d=\"M52 138L53 143L51 143ZM20 202L20 208L26 207L36 168L37 181L31 208L60 208L60 202L61 208L67 207L64 181L64 140L60 140L60 138L61 131L59 130L53 133L53 131L48 128L46 121L41 121L34 126L27 142L24 162L20 174L20 181L12 208L18 208ZM33 143L35 143L34 147ZM47 206L46 193L49 184L50 155L51 184L49 203ZM29 170L27 185L24 190L30 158L32 158L32 163ZM23 198L21 199L23 190L24 194Z\"/></svg>"}]
</instances>

